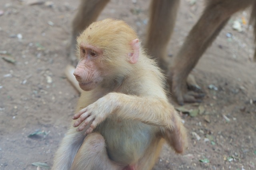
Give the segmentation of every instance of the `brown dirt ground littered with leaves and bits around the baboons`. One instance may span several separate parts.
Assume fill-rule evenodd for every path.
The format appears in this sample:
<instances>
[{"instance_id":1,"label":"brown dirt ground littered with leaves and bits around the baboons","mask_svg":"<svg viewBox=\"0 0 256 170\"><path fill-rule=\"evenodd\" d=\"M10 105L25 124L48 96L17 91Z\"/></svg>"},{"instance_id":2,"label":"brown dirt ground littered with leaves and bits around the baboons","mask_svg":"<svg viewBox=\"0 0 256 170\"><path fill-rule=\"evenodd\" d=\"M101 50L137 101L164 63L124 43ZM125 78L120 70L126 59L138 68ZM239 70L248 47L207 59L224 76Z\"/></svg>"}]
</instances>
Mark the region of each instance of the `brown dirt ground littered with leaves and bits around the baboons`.
<instances>
[{"instance_id":1,"label":"brown dirt ground littered with leaves and bits around the baboons","mask_svg":"<svg viewBox=\"0 0 256 170\"><path fill-rule=\"evenodd\" d=\"M64 76L79 0L27 2L0 1L0 170L36 170L33 162L52 166L79 97ZM125 20L143 40L148 5L147 0L112 0L99 19ZM202 8L203 0L181 1L169 56L177 53ZM184 106L199 108L199 114L181 113L189 149L176 155L165 146L154 170L256 169L256 63L249 14L235 14L193 70L206 97L200 105ZM243 18L243 31L232 29ZM210 90L211 84L218 90ZM28 137L35 131L42 134Z\"/></svg>"}]
</instances>

